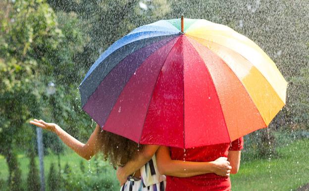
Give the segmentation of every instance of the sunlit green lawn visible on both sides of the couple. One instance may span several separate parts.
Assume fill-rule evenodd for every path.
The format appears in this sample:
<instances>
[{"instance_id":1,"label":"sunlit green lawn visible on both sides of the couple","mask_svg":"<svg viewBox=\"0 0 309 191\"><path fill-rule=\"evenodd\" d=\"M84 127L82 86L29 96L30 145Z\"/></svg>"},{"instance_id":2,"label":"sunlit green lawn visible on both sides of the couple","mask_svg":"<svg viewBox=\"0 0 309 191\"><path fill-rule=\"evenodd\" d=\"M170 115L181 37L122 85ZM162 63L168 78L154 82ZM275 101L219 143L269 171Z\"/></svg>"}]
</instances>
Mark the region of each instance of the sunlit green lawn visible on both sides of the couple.
<instances>
[{"instance_id":1,"label":"sunlit green lawn visible on both sides of the couple","mask_svg":"<svg viewBox=\"0 0 309 191\"><path fill-rule=\"evenodd\" d=\"M279 158L242 162L239 173L231 176L232 191L296 191L298 187L309 183L309 139L294 141L277 151ZM94 165L93 160L87 162L73 152L66 151L60 158L62 169L68 162L72 169L80 171L81 160L84 161L86 170L88 165ZM29 160L24 155L19 155L18 159L25 180ZM45 156L44 161L47 176L51 162L57 164L57 156ZM112 169L107 172L115 176ZM0 157L0 179L7 179L7 174L5 160Z\"/></svg>"}]
</instances>

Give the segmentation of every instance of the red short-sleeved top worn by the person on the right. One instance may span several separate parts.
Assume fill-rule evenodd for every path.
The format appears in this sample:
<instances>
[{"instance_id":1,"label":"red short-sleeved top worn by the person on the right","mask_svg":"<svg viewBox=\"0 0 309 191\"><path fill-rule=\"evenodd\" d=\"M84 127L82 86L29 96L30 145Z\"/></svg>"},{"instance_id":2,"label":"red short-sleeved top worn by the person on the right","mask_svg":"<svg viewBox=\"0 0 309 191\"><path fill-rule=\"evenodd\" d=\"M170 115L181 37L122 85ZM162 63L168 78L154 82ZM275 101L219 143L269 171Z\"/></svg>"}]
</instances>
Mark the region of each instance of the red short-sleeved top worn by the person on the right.
<instances>
[{"instance_id":1,"label":"red short-sleeved top worn by the person on the right","mask_svg":"<svg viewBox=\"0 0 309 191\"><path fill-rule=\"evenodd\" d=\"M241 150L244 139L240 137L231 143L222 143L198 148L184 149L170 147L171 158L195 162L210 162L219 157L227 157L229 150ZM214 173L178 178L166 176L166 191L230 191L229 177L218 176Z\"/></svg>"}]
</instances>

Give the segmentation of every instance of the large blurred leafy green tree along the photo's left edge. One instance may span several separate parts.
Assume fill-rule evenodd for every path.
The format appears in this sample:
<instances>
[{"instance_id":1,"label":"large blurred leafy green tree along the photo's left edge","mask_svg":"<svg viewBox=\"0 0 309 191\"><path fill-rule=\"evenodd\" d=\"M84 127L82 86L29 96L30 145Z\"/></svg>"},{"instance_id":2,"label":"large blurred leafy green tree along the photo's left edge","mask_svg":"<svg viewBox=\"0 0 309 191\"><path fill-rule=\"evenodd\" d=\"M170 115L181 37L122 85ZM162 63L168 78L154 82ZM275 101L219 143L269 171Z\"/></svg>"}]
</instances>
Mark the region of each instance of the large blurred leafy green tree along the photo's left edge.
<instances>
[{"instance_id":1,"label":"large blurred leafy green tree along the photo's left edge","mask_svg":"<svg viewBox=\"0 0 309 191\"><path fill-rule=\"evenodd\" d=\"M71 107L70 102L63 103L67 100L61 99L56 99L57 105L51 105L46 84L54 81L56 96L67 95L73 102L69 95L71 91L77 92L77 84L71 79L79 75L73 59L83 51L87 40L77 26L76 15L58 13L57 18L45 0L0 3L0 154L7 159L11 177L18 171L16 161L12 160L16 158L15 152L11 151L16 146L32 146L28 140L35 135L35 128L30 128L27 120L65 116ZM69 110L67 118L76 115ZM84 118L90 124L90 118ZM61 125L63 119L57 119Z\"/></svg>"}]
</instances>

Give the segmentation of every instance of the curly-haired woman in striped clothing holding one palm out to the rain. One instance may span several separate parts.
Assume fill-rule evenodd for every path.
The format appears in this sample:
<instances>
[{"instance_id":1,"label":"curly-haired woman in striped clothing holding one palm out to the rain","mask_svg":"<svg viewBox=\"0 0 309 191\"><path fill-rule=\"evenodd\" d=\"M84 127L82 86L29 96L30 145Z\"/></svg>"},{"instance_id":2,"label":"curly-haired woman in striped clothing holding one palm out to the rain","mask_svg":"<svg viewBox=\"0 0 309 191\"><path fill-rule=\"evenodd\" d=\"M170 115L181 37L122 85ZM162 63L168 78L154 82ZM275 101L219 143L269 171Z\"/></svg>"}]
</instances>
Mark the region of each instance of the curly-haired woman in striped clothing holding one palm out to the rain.
<instances>
[{"instance_id":1,"label":"curly-haired woman in striped clothing holding one palm out to the rain","mask_svg":"<svg viewBox=\"0 0 309 191\"><path fill-rule=\"evenodd\" d=\"M121 191L164 191L166 178L159 174L156 165L155 152L158 145L139 145L125 137L107 132L99 125L84 144L61 127L43 120L30 121L37 127L51 130L78 155L90 160L96 153L103 152L114 168L118 167L117 178L120 181ZM231 166L226 157L219 157L211 162L184 162L176 161L173 169L166 171L166 175L176 177L191 177L206 173L215 173L228 177ZM171 162L169 161L169 162Z\"/></svg>"}]
</instances>

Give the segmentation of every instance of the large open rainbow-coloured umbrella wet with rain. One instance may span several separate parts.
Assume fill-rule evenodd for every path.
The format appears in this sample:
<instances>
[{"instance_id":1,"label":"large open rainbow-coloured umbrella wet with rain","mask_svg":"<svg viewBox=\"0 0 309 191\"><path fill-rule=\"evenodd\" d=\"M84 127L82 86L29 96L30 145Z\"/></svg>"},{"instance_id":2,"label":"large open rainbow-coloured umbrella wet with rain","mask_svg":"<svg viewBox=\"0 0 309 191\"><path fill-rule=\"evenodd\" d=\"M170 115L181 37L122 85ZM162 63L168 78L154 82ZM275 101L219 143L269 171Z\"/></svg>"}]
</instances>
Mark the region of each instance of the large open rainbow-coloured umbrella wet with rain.
<instances>
[{"instance_id":1,"label":"large open rainbow-coloured umbrella wet with rain","mask_svg":"<svg viewBox=\"0 0 309 191\"><path fill-rule=\"evenodd\" d=\"M181 148L231 142L267 127L287 82L250 39L204 19L160 20L112 44L79 86L104 130Z\"/></svg>"}]
</instances>

